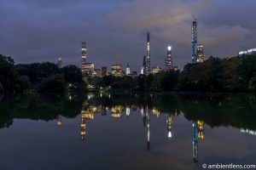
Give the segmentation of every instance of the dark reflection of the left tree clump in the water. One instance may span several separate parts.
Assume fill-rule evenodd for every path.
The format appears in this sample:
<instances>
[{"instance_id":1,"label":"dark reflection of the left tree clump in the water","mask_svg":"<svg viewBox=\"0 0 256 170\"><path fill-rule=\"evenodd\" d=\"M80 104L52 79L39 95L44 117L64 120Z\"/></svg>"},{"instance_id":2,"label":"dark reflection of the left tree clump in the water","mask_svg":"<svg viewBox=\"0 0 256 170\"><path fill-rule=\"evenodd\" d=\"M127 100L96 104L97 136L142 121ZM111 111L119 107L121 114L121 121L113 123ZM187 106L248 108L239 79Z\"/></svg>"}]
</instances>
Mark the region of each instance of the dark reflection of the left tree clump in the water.
<instances>
[{"instance_id":1,"label":"dark reflection of the left tree clump in the water","mask_svg":"<svg viewBox=\"0 0 256 170\"><path fill-rule=\"evenodd\" d=\"M58 116L75 117L82 99L69 101L66 96L20 95L4 98L0 103L0 127L9 127L13 119L50 121Z\"/></svg>"}]
</instances>

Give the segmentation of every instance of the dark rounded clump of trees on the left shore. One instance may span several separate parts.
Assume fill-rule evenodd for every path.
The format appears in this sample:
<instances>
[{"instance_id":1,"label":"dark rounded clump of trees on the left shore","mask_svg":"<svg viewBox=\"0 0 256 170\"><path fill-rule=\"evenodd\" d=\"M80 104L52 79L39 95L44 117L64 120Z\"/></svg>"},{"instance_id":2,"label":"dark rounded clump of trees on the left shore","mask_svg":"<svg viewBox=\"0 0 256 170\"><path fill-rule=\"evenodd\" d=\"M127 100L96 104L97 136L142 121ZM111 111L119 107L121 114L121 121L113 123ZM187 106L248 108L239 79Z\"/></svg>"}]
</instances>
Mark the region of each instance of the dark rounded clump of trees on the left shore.
<instances>
[{"instance_id":1,"label":"dark rounded clump of trees on the left shore","mask_svg":"<svg viewBox=\"0 0 256 170\"><path fill-rule=\"evenodd\" d=\"M80 88L84 88L84 82L75 65L63 68L49 62L15 65L14 59L0 54L0 93L17 94L27 89L62 93Z\"/></svg>"}]
</instances>

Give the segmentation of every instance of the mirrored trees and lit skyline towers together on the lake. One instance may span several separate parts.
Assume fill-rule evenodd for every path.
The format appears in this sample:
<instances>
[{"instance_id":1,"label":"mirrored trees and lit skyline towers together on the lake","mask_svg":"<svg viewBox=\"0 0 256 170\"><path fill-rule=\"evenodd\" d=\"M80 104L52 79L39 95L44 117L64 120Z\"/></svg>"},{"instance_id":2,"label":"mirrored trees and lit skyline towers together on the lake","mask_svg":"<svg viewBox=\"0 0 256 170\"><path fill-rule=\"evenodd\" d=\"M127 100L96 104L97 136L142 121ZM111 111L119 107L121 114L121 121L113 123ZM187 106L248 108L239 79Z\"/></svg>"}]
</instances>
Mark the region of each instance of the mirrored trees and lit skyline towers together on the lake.
<instances>
[{"instance_id":1,"label":"mirrored trees and lit skyline towers together on the lake","mask_svg":"<svg viewBox=\"0 0 256 170\"><path fill-rule=\"evenodd\" d=\"M90 138L88 122L106 116L113 121L137 114L143 127L146 150L152 150L151 130L154 117L164 117L166 139L175 141L177 116L184 116L192 124L192 159L199 161L199 145L205 139L205 126L235 127L241 133L256 135L256 101L253 95L172 95L172 94L68 94L67 96L17 96L2 99L0 127L11 127L14 119L55 120L61 127L62 119L79 117L79 138ZM242 113L242 114L241 114ZM156 119L161 121L162 119ZM56 123L55 122L55 123ZM1 131L0 131L1 132ZM191 134L191 133L190 133ZM154 137L154 136L153 136ZM154 147L153 147L154 148Z\"/></svg>"}]
</instances>

